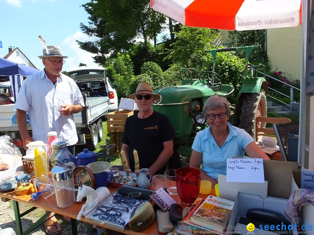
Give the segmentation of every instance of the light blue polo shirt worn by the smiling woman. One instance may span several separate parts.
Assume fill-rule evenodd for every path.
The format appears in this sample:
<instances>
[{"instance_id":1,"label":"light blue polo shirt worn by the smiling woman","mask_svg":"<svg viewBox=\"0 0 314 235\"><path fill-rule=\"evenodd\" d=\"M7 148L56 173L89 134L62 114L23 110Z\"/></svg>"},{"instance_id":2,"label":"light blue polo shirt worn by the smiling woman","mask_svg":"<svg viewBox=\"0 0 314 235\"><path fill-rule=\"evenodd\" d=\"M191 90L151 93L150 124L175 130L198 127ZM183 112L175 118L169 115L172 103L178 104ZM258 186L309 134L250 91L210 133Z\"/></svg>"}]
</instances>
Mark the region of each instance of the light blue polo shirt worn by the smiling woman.
<instances>
[{"instance_id":1,"label":"light blue polo shirt worn by the smiling woman","mask_svg":"<svg viewBox=\"0 0 314 235\"><path fill-rule=\"evenodd\" d=\"M210 128L197 133L192 149L203 153L202 170L211 178L217 179L219 175L227 173L227 159L232 157L243 157L245 148L254 142L254 139L243 129L228 123L229 134L221 149L211 134Z\"/></svg>"}]
</instances>

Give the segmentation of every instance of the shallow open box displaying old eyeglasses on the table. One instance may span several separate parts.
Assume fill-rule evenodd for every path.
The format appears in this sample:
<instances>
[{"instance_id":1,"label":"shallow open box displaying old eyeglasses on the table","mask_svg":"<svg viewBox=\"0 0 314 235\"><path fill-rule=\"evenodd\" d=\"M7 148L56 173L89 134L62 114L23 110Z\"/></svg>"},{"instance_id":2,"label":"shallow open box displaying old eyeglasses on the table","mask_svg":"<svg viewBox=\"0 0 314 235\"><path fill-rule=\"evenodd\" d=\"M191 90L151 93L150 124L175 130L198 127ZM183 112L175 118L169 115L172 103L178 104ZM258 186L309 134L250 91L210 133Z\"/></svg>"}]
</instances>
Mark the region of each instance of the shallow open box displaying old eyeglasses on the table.
<instances>
[{"instance_id":1,"label":"shallow open box displaying old eyeglasses on the table","mask_svg":"<svg viewBox=\"0 0 314 235\"><path fill-rule=\"evenodd\" d=\"M135 205L138 206L132 206L132 207L128 207L129 211L128 212L122 212L122 216L120 217L111 217L113 220L115 220L116 223L114 222L110 222L109 219L105 219L106 215L103 217L104 220L99 219L99 216L96 215L96 209L97 206L101 206L102 203L110 203L112 205L116 205L112 203L112 199L113 199L113 195L117 195L119 194L118 191L122 191L122 192L142 192L143 196L141 199L137 199L137 202ZM105 224L108 228L112 228L112 229L116 229L116 230L120 230L120 231L125 231L127 230L127 228L129 227L129 220L130 220L130 215L131 213L135 210L135 214L136 212L139 210L139 208L147 201L150 200L149 198L149 194L151 193L155 193L154 191L151 190L147 190L147 189L141 189L141 188L137 188L137 187L132 187L132 186L128 186L128 185L123 185L122 187L120 187L119 189L117 189L116 191L114 191L109 197L107 197L104 201L100 202L99 205L97 205L94 209L92 209L86 216L85 219L88 222L91 222L93 224ZM136 199L136 197L135 197ZM120 204L118 204L120 205ZM121 206L121 205L120 205ZM123 205L126 206L126 205ZM94 216L93 216L94 215ZM119 224L120 223L120 224Z\"/></svg>"}]
</instances>

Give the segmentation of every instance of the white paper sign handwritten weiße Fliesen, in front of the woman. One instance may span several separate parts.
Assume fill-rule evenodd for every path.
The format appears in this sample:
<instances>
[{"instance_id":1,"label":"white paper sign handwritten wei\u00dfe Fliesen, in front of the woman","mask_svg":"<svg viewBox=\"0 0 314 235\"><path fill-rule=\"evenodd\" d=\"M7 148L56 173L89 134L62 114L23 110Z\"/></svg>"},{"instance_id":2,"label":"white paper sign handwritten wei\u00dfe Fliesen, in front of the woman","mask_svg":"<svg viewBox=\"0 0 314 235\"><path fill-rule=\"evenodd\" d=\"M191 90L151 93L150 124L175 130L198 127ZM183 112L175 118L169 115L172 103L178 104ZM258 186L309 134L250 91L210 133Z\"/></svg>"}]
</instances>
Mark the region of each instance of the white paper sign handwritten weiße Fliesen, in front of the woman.
<instances>
[{"instance_id":1,"label":"white paper sign handwritten wei\u00dfe Fliesen, in front of the woman","mask_svg":"<svg viewBox=\"0 0 314 235\"><path fill-rule=\"evenodd\" d=\"M227 182L264 183L263 159L227 159Z\"/></svg>"}]
</instances>

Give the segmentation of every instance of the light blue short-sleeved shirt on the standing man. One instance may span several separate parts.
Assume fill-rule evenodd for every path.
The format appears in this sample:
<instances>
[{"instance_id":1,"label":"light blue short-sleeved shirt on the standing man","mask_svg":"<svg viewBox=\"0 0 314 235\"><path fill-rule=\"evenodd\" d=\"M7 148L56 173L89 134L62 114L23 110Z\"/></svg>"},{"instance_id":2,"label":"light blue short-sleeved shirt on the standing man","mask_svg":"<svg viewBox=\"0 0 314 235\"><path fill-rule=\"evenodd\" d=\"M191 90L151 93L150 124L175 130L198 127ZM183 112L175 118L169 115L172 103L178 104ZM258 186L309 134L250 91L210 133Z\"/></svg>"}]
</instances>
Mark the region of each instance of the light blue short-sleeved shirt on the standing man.
<instances>
[{"instance_id":1,"label":"light blue short-sleeved shirt on the standing man","mask_svg":"<svg viewBox=\"0 0 314 235\"><path fill-rule=\"evenodd\" d=\"M83 96L73 79L64 74L55 85L47 78L45 70L29 76L19 90L15 108L29 111L35 141L47 143L47 133L56 131L59 140L73 145L78 141L73 114L62 116L59 109L62 104L84 107Z\"/></svg>"}]
</instances>

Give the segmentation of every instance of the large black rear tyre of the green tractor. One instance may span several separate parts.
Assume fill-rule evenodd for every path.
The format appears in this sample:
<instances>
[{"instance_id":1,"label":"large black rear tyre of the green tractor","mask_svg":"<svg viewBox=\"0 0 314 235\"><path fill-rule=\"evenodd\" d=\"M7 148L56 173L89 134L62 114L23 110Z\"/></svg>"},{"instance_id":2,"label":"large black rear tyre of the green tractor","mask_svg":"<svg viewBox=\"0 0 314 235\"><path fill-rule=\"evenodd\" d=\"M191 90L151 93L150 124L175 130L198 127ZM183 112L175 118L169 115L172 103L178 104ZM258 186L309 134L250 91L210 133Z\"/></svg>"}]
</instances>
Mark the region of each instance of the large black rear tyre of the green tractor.
<instances>
[{"instance_id":1,"label":"large black rear tyre of the green tractor","mask_svg":"<svg viewBox=\"0 0 314 235\"><path fill-rule=\"evenodd\" d=\"M239 128L244 129L255 139L255 118L259 116L266 117L266 111L266 95L264 90L261 90L259 94L244 94ZM260 123L260 125L264 126L265 123Z\"/></svg>"}]
</instances>

